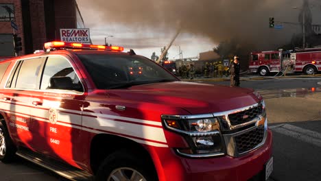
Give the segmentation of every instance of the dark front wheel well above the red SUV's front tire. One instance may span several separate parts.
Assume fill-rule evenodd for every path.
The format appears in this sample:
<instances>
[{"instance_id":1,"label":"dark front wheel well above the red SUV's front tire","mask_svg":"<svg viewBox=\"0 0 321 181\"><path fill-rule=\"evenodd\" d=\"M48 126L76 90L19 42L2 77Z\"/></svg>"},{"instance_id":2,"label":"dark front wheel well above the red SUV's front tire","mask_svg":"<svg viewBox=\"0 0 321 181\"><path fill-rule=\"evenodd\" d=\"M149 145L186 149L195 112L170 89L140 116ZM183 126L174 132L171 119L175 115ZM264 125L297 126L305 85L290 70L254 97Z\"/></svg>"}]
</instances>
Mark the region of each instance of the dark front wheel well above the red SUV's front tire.
<instances>
[{"instance_id":1,"label":"dark front wheel well above the red SUV's front tire","mask_svg":"<svg viewBox=\"0 0 321 181\"><path fill-rule=\"evenodd\" d=\"M97 173L99 166L108 155L120 149L132 152L135 156L145 160L150 167L154 167L150 154L141 144L112 134L98 134L91 141L91 169L93 173ZM155 167L154 171L156 172Z\"/></svg>"}]
</instances>

